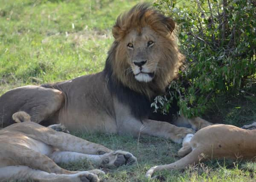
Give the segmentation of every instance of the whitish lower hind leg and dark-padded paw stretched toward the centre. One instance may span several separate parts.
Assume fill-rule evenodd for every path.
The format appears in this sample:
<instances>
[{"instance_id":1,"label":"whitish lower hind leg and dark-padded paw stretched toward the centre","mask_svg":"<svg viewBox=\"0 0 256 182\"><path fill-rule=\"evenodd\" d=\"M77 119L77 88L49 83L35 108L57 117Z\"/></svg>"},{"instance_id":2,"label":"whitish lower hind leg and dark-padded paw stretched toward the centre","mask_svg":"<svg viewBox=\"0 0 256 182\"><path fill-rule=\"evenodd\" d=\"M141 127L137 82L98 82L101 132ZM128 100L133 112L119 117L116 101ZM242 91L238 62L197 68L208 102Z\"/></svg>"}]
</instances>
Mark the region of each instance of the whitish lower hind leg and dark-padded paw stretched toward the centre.
<instances>
[{"instance_id":1,"label":"whitish lower hind leg and dark-padded paw stretched toward the centre","mask_svg":"<svg viewBox=\"0 0 256 182\"><path fill-rule=\"evenodd\" d=\"M116 150L103 155L91 155L77 152L53 152L49 156L56 163L76 162L81 159L86 159L94 165L102 167L119 167L125 164L132 164L137 161L131 153L122 150Z\"/></svg>"}]
</instances>

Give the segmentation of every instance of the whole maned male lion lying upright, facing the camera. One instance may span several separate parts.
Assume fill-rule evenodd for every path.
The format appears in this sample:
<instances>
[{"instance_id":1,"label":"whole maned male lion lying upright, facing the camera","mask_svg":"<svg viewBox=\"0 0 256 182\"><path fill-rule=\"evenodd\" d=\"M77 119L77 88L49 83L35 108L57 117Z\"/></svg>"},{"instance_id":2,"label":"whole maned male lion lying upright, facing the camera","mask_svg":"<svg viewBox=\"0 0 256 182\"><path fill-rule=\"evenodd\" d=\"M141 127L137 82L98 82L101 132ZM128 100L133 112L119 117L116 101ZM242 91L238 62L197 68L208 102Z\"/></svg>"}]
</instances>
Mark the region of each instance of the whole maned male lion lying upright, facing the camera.
<instances>
[{"instance_id":1,"label":"whole maned male lion lying upright, facing the camera","mask_svg":"<svg viewBox=\"0 0 256 182\"><path fill-rule=\"evenodd\" d=\"M174 28L170 17L147 4L134 6L113 26L115 40L102 72L6 92L0 97L3 127L13 123L12 113L22 110L43 125L61 122L68 130L153 135L182 142L193 130L162 122L150 107L183 62ZM190 121L167 118L172 120Z\"/></svg>"}]
</instances>

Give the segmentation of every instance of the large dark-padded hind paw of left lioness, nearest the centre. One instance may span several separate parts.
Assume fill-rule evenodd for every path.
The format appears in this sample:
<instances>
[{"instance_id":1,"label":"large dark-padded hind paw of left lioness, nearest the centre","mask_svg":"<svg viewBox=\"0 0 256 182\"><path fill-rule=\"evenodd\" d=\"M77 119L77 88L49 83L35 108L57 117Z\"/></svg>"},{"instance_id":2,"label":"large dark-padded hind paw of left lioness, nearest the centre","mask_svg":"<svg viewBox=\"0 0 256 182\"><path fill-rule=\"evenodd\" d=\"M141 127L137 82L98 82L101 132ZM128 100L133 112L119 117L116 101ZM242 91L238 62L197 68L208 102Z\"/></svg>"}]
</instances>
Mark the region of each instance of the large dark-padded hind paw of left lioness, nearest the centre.
<instances>
[{"instance_id":1,"label":"large dark-padded hind paw of left lioness, nearest the centre","mask_svg":"<svg viewBox=\"0 0 256 182\"><path fill-rule=\"evenodd\" d=\"M131 153L116 150L111 153L105 153L105 159L102 159L102 166L111 168L111 167L119 167L122 165L131 165L137 162L137 158L134 157Z\"/></svg>"}]
</instances>

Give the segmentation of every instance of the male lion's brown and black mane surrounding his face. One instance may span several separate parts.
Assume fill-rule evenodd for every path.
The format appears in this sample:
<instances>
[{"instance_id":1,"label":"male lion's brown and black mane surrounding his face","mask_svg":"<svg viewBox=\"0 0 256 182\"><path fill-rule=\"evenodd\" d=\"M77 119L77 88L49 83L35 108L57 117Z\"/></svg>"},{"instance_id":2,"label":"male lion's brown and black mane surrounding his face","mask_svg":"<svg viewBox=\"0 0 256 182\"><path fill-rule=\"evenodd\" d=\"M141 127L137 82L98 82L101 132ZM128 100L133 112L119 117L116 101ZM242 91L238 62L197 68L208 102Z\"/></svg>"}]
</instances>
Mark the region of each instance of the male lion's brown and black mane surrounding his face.
<instances>
[{"instance_id":1,"label":"male lion's brown and black mane surrounding his face","mask_svg":"<svg viewBox=\"0 0 256 182\"><path fill-rule=\"evenodd\" d=\"M127 71L130 65L127 63L127 54L122 39L131 30L149 26L160 36L166 38L165 45L154 79L151 82L139 82L134 78L133 72ZM177 76L178 69L182 65L184 56L179 52L176 37L173 32L175 22L149 7L148 4L134 6L129 12L119 15L113 26L115 41L108 52L105 63L105 75L110 92L125 105L131 108L131 113L136 118L149 117L152 113L151 102L155 96L163 94L166 87ZM177 107L172 108L170 115L177 112Z\"/></svg>"}]
</instances>

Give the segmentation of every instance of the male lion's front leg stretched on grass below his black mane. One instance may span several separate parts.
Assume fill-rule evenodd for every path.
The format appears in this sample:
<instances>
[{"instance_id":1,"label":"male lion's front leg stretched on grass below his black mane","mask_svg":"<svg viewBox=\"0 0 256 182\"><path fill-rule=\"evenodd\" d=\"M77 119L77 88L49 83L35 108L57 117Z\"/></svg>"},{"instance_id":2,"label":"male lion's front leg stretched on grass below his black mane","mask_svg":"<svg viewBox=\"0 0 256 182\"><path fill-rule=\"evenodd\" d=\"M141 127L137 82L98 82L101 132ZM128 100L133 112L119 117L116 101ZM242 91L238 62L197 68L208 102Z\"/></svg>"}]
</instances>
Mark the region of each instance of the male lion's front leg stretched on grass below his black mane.
<instances>
[{"instance_id":1,"label":"male lion's front leg stretched on grass below his black mane","mask_svg":"<svg viewBox=\"0 0 256 182\"><path fill-rule=\"evenodd\" d=\"M195 133L194 130L186 127L177 127L173 124L151 119L143 120L143 126L140 129L141 134L160 136L171 139L174 142L181 143L183 138L189 133Z\"/></svg>"}]
</instances>

